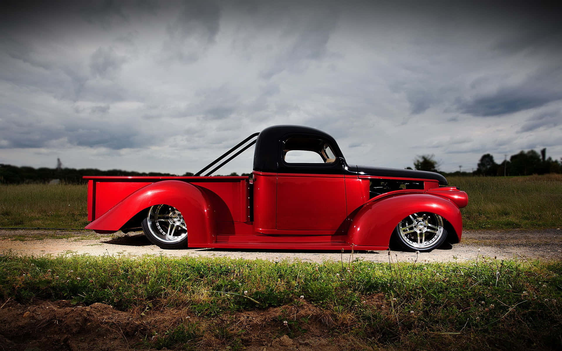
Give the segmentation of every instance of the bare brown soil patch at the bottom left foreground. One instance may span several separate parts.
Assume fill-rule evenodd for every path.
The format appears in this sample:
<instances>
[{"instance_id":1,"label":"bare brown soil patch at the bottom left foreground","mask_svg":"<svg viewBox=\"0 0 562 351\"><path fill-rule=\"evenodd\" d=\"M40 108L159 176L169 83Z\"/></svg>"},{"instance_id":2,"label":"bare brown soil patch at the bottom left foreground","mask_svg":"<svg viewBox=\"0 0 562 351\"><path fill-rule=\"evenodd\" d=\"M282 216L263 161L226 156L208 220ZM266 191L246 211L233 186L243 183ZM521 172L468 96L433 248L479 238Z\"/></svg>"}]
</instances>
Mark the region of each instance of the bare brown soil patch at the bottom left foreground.
<instances>
[{"instance_id":1,"label":"bare brown soil patch at the bottom left foreground","mask_svg":"<svg viewBox=\"0 0 562 351\"><path fill-rule=\"evenodd\" d=\"M107 304L73 306L65 300L31 306L8 301L0 311L0 345L11 350L162 348L162 340L171 337L169 331L187 323L198 325L203 333L187 340L196 349L236 345L251 351L343 350L355 343L333 334L323 323L321 309L305 301L215 318L197 317L186 308L123 312ZM217 327L237 338L223 338L214 332Z\"/></svg>"}]
</instances>

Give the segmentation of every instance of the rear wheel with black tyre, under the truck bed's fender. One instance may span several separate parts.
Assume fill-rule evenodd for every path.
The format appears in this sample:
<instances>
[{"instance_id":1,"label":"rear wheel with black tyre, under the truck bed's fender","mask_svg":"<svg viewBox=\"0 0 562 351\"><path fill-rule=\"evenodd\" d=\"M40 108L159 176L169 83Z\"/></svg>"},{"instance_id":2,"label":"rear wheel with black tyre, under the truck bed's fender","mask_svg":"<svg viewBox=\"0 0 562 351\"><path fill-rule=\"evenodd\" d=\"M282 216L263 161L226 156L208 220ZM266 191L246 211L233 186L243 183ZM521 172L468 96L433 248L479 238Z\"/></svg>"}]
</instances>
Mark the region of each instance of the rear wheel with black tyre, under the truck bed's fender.
<instances>
[{"instance_id":1,"label":"rear wheel with black tyre, under the truck bed's fender","mask_svg":"<svg viewBox=\"0 0 562 351\"><path fill-rule=\"evenodd\" d=\"M173 206L152 206L141 225L148 240L162 249L180 249L187 246L185 221L182 213Z\"/></svg>"}]
</instances>

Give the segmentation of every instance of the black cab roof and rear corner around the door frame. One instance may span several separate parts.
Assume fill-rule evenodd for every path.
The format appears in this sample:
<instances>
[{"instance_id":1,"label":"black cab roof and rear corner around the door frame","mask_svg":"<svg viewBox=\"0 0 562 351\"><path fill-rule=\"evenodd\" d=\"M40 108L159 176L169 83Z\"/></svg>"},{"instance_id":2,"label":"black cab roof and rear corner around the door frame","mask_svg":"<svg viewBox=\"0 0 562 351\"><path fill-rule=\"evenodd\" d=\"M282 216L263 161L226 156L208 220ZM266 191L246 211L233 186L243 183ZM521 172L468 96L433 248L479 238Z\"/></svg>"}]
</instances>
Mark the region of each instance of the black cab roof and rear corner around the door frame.
<instances>
[{"instance_id":1,"label":"black cab roof and rear corner around the door frame","mask_svg":"<svg viewBox=\"0 0 562 351\"><path fill-rule=\"evenodd\" d=\"M253 169L261 172L277 172L278 162L281 159L280 142L292 135L316 136L323 139L330 144L337 157L343 157L336 140L321 130L296 125L271 126L262 130L260 135L257 136Z\"/></svg>"}]
</instances>

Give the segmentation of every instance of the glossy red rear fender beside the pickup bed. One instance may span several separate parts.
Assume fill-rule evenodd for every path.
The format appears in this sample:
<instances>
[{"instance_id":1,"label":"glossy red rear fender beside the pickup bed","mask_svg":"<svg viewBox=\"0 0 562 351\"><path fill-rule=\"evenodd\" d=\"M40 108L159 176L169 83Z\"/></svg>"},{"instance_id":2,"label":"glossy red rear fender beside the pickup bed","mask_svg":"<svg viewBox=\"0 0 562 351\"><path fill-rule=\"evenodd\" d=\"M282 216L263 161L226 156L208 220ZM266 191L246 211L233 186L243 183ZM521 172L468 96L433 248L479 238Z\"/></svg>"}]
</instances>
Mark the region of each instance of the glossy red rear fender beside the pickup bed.
<instances>
[{"instance_id":1,"label":"glossy red rear fender beside the pickup bed","mask_svg":"<svg viewBox=\"0 0 562 351\"><path fill-rule=\"evenodd\" d=\"M85 228L99 233L114 233L140 211L158 204L167 204L182 212L189 246L215 241L209 199L199 186L179 180L164 180L143 186Z\"/></svg>"}]
</instances>

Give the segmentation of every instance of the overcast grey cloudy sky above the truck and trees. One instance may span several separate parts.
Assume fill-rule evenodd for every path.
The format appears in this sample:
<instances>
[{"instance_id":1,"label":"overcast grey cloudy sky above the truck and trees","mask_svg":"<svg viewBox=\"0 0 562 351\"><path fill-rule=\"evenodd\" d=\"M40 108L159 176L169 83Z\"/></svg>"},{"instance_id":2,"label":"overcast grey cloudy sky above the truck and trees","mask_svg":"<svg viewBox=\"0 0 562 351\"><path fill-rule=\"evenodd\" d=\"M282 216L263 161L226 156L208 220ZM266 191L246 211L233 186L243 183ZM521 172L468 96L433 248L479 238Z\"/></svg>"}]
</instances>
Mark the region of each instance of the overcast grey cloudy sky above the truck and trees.
<instances>
[{"instance_id":1,"label":"overcast grey cloudy sky above the truck and trees","mask_svg":"<svg viewBox=\"0 0 562 351\"><path fill-rule=\"evenodd\" d=\"M327 131L350 164L562 157L559 8L22 3L0 11L0 163L183 174L278 124Z\"/></svg>"}]
</instances>

